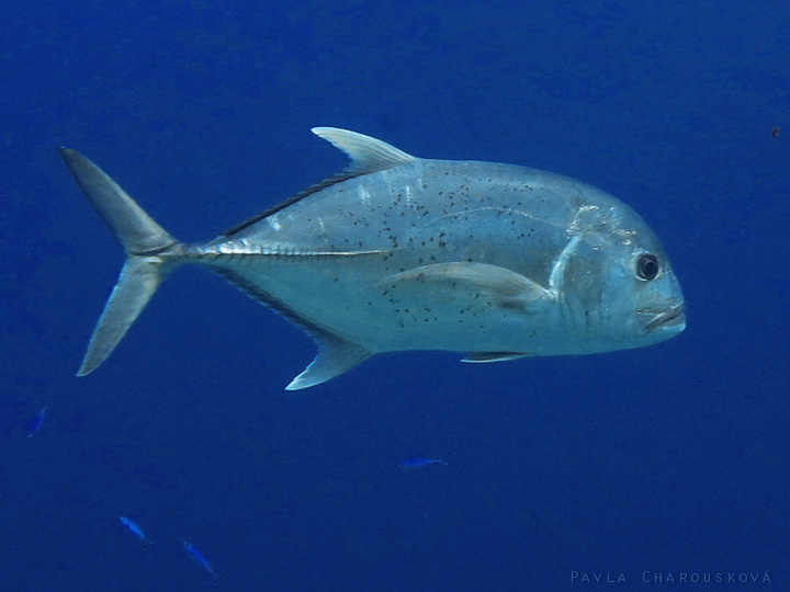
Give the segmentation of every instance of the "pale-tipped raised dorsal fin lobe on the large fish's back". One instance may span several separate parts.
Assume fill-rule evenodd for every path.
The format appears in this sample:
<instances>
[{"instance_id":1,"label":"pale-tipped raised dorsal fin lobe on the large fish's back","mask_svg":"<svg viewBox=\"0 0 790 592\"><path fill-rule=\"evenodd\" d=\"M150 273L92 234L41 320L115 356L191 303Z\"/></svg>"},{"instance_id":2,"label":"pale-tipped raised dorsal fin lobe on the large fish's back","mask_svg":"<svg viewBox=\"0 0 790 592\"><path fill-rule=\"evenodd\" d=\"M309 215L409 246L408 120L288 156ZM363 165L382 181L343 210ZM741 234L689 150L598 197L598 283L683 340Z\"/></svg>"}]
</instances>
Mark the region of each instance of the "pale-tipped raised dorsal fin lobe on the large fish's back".
<instances>
[{"instance_id":1,"label":"pale-tipped raised dorsal fin lobe on the large fish's back","mask_svg":"<svg viewBox=\"0 0 790 592\"><path fill-rule=\"evenodd\" d=\"M417 160L411 155L398 150L386 141L357 132L340 129L339 127L314 127L311 132L346 152L351 159L351 164L345 172L354 175L383 171Z\"/></svg>"}]
</instances>

